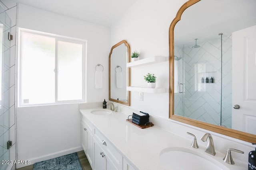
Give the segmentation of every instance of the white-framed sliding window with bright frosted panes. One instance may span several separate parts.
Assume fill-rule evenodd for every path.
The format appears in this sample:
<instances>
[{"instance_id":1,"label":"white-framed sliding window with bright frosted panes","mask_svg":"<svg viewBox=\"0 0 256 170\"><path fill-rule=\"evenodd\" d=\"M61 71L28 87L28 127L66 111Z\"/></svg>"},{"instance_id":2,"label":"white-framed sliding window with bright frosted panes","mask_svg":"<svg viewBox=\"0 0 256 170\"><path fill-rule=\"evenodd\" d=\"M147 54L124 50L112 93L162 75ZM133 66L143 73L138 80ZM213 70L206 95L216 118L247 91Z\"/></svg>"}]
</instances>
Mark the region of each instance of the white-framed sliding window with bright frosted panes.
<instances>
[{"instance_id":1,"label":"white-framed sliding window with bright frosted panes","mask_svg":"<svg viewBox=\"0 0 256 170\"><path fill-rule=\"evenodd\" d=\"M86 41L20 29L19 106L82 102Z\"/></svg>"}]
</instances>

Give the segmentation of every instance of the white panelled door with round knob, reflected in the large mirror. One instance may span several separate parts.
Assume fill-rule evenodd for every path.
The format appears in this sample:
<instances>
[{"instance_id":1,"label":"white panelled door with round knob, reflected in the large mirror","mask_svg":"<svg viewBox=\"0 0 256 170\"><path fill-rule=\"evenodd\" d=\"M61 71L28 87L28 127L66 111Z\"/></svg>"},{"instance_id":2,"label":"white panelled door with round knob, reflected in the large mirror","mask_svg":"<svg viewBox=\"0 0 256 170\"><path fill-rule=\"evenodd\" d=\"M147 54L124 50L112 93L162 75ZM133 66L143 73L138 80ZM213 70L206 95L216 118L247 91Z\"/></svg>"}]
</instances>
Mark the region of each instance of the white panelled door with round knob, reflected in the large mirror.
<instances>
[{"instance_id":1,"label":"white panelled door with round knob, reflected in the large mirror","mask_svg":"<svg viewBox=\"0 0 256 170\"><path fill-rule=\"evenodd\" d=\"M232 33L232 129L256 135L256 25Z\"/></svg>"}]
</instances>

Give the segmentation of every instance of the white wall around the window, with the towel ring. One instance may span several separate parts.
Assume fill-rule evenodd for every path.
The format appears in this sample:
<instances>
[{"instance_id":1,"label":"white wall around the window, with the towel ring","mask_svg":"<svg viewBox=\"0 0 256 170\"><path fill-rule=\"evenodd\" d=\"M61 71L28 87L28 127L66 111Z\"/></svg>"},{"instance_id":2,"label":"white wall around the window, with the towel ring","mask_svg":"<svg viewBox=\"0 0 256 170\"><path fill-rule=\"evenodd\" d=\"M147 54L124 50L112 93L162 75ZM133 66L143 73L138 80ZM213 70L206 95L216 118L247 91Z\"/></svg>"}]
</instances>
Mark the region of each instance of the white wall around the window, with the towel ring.
<instances>
[{"instance_id":1,"label":"white wall around the window, with the towel ring","mask_svg":"<svg viewBox=\"0 0 256 170\"><path fill-rule=\"evenodd\" d=\"M18 4L18 27L87 40L86 102L108 98L108 27L23 4ZM104 66L102 89L94 87L96 64ZM78 104L17 107L16 115L18 160L34 163L82 150Z\"/></svg>"}]
</instances>

